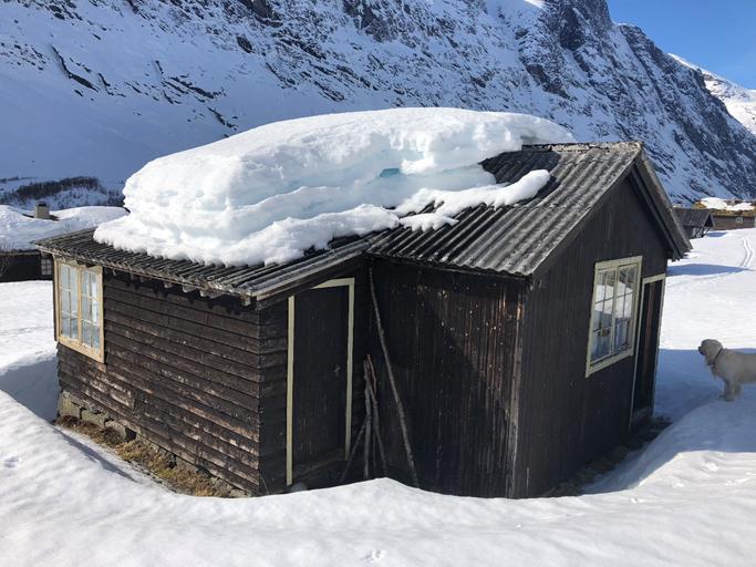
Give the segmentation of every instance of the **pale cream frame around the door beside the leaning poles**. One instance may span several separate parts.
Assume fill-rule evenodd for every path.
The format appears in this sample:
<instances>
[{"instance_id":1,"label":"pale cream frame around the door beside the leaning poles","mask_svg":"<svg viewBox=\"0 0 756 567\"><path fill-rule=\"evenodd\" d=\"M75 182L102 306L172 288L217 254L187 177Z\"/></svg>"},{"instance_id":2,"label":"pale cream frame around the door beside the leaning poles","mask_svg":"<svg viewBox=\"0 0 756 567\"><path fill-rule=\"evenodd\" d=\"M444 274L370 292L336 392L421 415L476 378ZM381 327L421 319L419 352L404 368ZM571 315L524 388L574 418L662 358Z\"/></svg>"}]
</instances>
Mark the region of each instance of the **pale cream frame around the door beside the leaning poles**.
<instances>
[{"instance_id":1,"label":"pale cream frame around the door beside the leaning poles","mask_svg":"<svg viewBox=\"0 0 756 567\"><path fill-rule=\"evenodd\" d=\"M349 288L349 315L346 330L346 395L344 415L344 460L349 458L352 444L352 367L354 354L354 278L330 279L310 289ZM296 296L289 296L289 330L287 354L287 486L293 484L293 416L294 416L294 307Z\"/></svg>"}]
</instances>

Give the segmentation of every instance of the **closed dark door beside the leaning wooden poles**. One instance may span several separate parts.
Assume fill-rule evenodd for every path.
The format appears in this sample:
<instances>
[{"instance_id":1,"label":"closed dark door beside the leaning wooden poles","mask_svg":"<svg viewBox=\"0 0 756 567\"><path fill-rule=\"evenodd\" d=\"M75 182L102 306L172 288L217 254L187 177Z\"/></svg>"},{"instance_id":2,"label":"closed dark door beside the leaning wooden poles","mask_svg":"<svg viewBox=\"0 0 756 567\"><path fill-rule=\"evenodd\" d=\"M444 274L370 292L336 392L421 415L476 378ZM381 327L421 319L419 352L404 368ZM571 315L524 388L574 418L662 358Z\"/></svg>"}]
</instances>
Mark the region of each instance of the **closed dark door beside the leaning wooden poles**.
<instances>
[{"instance_id":1,"label":"closed dark door beside the leaning wooden poles","mask_svg":"<svg viewBox=\"0 0 756 567\"><path fill-rule=\"evenodd\" d=\"M344 457L349 303L348 286L293 298L290 482Z\"/></svg>"}]
</instances>

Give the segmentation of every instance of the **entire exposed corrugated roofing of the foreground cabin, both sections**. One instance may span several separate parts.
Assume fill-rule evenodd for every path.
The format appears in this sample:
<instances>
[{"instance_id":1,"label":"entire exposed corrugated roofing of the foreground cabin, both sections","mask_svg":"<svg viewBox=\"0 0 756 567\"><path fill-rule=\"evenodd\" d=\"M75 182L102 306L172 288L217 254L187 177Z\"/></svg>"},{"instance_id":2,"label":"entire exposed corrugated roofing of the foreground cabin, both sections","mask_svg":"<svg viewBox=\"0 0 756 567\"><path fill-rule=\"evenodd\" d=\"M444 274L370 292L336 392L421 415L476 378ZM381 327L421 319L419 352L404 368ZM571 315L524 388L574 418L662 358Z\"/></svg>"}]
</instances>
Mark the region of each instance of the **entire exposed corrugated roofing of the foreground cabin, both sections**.
<instances>
[{"instance_id":1,"label":"entire exposed corrugated roofing of the foreground cabin, both sections","mask_svg":"<svg viewBox=\"0 0 756 567\"><path fill-rule=\"evenodd\" d=\"M220 267L154 258L95 243L92 230L37 244L52 254L136 276L258 299L315 278L366 252L453 268L529 276L590 214L601 197L638 165L643 185L649 186L649 202L664 226L673 256L680 257L690 249L640 143L527 146L520 152L487 159L483 165L498 183L515 183L534 169L547 169L551 179L536 198L520 205L467 209L458 215L454 226L425 233L398 228L363 238L334 240L329 250L313 251L282 266Z\"/></svg>"}]
</instances>

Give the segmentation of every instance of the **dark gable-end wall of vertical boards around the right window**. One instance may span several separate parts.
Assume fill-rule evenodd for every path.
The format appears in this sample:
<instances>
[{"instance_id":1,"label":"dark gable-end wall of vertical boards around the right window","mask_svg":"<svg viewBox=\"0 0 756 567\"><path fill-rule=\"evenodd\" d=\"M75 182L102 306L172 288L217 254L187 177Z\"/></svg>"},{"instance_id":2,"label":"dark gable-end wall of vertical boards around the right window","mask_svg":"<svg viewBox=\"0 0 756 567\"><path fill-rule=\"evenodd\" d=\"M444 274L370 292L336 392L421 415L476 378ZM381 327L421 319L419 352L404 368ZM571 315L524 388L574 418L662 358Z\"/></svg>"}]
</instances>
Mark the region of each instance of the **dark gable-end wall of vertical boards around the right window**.
<instances>
[{"instance_id":1,"label":"dark gable-end wall of vertical boards around the right window","mask_svg":"<svg viewBox=\"0 0 756 567\"><path fill-rule=\"evenodd\" d=\"M657 228L630 182L618 187L525 303L522 389L514 496L535 496L623 441L634 357L586 378L593 269L643 256L643 277L666 270Z\"/></svg>"}]
</instances>

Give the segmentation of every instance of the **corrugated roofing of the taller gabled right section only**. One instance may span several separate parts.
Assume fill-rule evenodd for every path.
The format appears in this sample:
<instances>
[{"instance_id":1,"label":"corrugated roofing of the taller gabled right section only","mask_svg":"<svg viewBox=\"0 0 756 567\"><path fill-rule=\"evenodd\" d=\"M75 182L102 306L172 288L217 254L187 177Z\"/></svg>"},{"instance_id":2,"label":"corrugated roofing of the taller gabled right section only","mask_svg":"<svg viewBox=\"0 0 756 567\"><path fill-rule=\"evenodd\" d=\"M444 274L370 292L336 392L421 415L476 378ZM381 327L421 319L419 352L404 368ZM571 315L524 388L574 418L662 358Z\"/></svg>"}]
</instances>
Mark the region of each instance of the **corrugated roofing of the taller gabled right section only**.
<instances>
[{"instance_id":1,"label":"corrugated roofing of the taller gabled right section only","mask_svg":"<svg viewBox=\"0 0 756 567\"><path fill-rule=\"evenodd\" d=\"M426 233L397 229L379 237L371 254L511 275L529 276L590 214L601 197L638 164L640 143L529 146L484 162L497 183L515 183L534 169L551 179L538 196L521 205L462 213L458 223ZM659 193L661 188L652 188ZM665 194L655 196L676 227ZM661 212L664 214L664 210ZM684 235L677 245L684 252Z\"/></svg>"}]
</instances>

